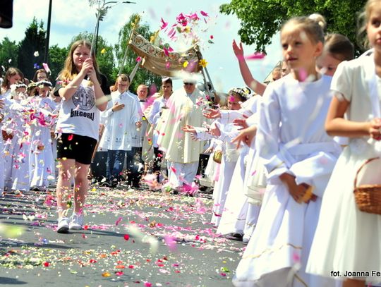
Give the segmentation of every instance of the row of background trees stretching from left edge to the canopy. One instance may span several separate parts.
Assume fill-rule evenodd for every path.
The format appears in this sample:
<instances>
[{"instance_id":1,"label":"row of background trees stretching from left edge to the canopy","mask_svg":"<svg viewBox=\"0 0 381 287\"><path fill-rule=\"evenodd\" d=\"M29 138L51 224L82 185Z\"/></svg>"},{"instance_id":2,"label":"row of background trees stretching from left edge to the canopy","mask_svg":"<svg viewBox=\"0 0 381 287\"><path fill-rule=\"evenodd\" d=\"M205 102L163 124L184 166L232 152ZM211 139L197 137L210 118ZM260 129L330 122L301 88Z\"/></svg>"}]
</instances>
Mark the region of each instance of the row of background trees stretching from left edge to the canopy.
<instances>
[{"instance_id":1,"label":"row of background trees stretching from left edge to the canopy","mask_svg":"<svg viewBox=\"0 0 381 287\"><path fill-rule=\"evenodd\" d=\"M131 16L128 23L126 23L119 32L119 41L114 47L108 44L101 35L97 38L97 61L99 70L106 75L109 80L109 85L113 85L119 73L119 65L122 62L123 56L127 49L126 61L123 65L122 73L131 73L136 64L136 55L128 48L128 39L131 34L135 15ZM25 30L25 38L18 44L11 42L7 37L0 43L0 65L4 66L6 70L10 66L20 68L26 78L32 78L37 68L42 68L44 60L44 49L46 41L46 31L43 29L44 23L41 21L37 23L36 18L33 18L32 23ZM138 32L143 37L150 39L152 32L147 24L139 25ZM58 45L49 47L49 68L52 71L50 80L54 82L59 72L63 68L63 63L66 59L68 51L73 42L78 39L87 39L92 42L93 34L90 32L81 32L73 37L68 47L61 48ZM35 56L35 52L38 56ZM11 61L9 61L11 60ZM135 75L133 83L131 83L130 90L135 92L140 84L161 85L161 78L144 68L139 68ZM53 83L54 84L54 83Z\"/></svg>"}]
</instances>

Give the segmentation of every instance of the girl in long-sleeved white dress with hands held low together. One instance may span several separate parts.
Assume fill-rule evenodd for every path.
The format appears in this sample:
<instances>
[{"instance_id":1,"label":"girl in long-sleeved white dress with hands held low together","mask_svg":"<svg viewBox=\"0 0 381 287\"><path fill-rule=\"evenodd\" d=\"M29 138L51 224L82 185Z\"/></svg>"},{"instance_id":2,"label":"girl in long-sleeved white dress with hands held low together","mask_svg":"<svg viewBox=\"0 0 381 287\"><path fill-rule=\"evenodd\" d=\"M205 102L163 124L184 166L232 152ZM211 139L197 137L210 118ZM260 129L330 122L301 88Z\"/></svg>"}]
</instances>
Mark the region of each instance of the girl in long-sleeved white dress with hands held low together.
<instances>
[{"instance_id":1,"label":"girl in long-sleeved white dress with hands held low together","mask_svg":"<svg viewBox=\"0 0 381 287\"><path fill-rule=\"evenodd\" d=\"M321 197L340 152L324 121L330 77L315 70L324 34L310 18L293 18L281 31L291 73L265 90L256 148L267 171L258 224L238 264L235 286L334 286L306 274Z\"/></svg>"}]
</instances>

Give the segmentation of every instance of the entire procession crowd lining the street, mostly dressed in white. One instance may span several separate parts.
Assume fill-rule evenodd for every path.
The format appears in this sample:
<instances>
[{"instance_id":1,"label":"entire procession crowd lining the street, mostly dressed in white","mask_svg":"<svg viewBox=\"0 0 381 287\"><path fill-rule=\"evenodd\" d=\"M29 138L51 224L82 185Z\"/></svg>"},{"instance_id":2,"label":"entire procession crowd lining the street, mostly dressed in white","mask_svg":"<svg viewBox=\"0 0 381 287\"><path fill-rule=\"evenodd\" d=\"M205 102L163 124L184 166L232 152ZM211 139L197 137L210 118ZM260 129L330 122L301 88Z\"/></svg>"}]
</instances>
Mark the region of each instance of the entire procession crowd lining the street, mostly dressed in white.
<instances>
[{"instance_id":1,"label":"entire procession crowd lining the street, mostly dressed in white","mask_svg":"<svg viewBox=\"0 0 381 287\"><path fill-rule=\"evenodd\" d=\"M248 87L225 98L194 74L175 91L163 78L155 94L145 84L133 94L125 74L107 87L85 40L72 45L55 87L44 70L25 85L9 68L1 192L56 182L57 232L66 233L83 228L90 178L187 195L197 179L213 186L216 233L247 244L234 286L380 283L380 200L363 209L353 195L364 166L364 180L381 185L380 0L368 0L363 20L372 49L354 59L349 39L325 35L322 16L291 18L268 85L253 78L234 41ZM210 154L202 169L200 154Z\"/></svg>"}]
</instances>

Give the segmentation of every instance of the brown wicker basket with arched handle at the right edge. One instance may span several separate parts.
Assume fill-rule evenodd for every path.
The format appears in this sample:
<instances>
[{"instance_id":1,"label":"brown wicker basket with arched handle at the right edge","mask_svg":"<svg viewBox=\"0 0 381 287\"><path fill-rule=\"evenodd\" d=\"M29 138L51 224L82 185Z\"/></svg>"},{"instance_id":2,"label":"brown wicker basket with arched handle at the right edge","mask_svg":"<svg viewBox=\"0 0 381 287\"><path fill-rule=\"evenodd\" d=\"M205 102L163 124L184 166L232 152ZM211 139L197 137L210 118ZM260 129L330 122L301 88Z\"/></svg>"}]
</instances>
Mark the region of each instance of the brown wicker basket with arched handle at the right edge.
<instances>
[{"instance_id":1,"label":"brown wicker basket with arched handle at the right edge","mask_svg":"<svg viewBox=\"0 0 381 287\"><path fill-rule=\"evenodd\" d=\"M357 186L358 173L363 167L379 157L373 157L365 161L356 172L354 180L354 196L358 209L362 212L368 212L381 215L381 184L362 184Z\"/></svg>"}]
</instances>

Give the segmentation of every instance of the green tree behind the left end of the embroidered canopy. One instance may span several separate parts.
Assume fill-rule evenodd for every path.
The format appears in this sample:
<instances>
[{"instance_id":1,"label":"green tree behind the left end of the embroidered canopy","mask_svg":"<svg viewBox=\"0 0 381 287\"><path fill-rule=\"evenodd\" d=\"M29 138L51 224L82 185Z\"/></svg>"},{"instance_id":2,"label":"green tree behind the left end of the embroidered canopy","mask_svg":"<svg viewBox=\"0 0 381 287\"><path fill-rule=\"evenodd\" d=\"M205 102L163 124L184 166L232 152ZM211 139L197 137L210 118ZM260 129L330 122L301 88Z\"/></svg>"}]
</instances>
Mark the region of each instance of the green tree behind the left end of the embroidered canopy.
<instances>
[{"instance_id":1,"label":"green tree behind the left end of the embroidered canopy","mask_svg":"<svg viewBox=\"0 0 381 287\"><path fill-rule=\"evenodd\" d=\"M126 49L126 60L124 61L121 73L126 73L127 75L130 75L131 71L136 65L137 55L128 47L128 39L130 38L131 30L133 30L133 25L137 16L138 14L133 14L128 20L128 23L126 23L123 26L123 28L121 28L121 30L119 31L119 40L118 43L114 46L116 63L118 63L118 67L114 71L114 75L112 78L113 80L116 79L116 76L119 73L120 65L123 61L123 57L126 54ZM138 25L136 31L140 35L145 37L145 39L150 39L151 35L153 34L153 32L150 31L150 26L147 25L147 23ZM155 75L154 73L147 71L145 68L138 68L138 71L136 72L135 77L133 78L133 82L130 86L131 92L135 92L138 85L140 84L155 84L157 87L159 87L160 85L162 85L162 78L159 75Z\"/></svg>"}]
</instances>

